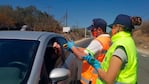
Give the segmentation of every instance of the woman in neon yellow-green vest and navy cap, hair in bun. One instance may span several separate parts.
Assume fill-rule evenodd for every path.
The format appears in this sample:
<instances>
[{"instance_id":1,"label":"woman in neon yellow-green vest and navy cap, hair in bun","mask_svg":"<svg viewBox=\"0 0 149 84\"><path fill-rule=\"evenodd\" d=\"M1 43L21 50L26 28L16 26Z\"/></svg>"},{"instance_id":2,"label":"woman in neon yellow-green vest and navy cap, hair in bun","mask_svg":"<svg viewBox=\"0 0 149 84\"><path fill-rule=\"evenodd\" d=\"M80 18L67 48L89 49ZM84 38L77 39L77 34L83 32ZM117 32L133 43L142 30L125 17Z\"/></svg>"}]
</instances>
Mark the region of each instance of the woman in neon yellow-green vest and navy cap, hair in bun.
<instances>
[{"instance_id":1,"label":"woman in neon yellow-green vest and navy cap, hair in bun","mask_svg":"<svg viewBox=\"0 0 149 84\"><path fill-rule=\"evenodd\" d=\"M138 56L131 32L141 22L141 17L119 14L109 25L112 28L112 45L103 62L100 63L92 55L82 55L82 59L98 71L96 84L137 84ZM73 42L67 45L73 50Z\"/></svg>"}]
</instances>

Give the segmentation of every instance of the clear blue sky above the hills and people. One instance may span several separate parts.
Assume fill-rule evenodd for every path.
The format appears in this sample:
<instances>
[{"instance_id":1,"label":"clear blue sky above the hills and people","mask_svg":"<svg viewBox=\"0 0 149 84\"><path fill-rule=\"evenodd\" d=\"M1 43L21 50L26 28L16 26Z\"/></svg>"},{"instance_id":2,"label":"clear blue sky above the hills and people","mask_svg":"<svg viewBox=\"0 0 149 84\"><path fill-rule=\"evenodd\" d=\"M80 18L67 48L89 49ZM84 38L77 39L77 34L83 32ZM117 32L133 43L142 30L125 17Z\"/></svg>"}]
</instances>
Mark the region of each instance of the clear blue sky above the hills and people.
<instances>
[{"instance_id":1,"label":"clear blue sky above the hills and people","mask_svg":"<svg viewBox=\"0 0 149 84\"><path fill-rule=\"evenodd\" d=\"M0 5L14 8L33 5L70 27L86 28L94 18L103 18L111 24L118 14L149 20L149 0L0 0ZM63 19L66 13L67 19Z\"/></svg>"}]
</instances>

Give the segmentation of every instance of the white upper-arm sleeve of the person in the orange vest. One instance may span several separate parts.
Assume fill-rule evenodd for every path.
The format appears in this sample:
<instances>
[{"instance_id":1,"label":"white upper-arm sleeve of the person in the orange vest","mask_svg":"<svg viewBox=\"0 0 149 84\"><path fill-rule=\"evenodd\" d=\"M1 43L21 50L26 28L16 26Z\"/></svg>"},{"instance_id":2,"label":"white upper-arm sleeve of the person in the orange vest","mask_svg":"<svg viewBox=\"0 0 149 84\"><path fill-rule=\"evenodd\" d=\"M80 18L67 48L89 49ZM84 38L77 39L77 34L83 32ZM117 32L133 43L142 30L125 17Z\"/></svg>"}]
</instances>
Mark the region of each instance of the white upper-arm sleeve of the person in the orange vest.
<instances>
[{"instance_id":1,"label":"white upper-arm sleeve of the person in the orange vest","mask_svg":"<svg viewBox=\"0 0 149 84\"><path fill-rule=\"evenodd\" d=\"M91 41L91 43L88 45L88 47L86 48L87 50L85 50L86 54L89 54L90 52L92 53L97 53L98 51L100 51L102 49L102 45L99 41L97 40L93 40Z\"/></svg>"}]
</instances>

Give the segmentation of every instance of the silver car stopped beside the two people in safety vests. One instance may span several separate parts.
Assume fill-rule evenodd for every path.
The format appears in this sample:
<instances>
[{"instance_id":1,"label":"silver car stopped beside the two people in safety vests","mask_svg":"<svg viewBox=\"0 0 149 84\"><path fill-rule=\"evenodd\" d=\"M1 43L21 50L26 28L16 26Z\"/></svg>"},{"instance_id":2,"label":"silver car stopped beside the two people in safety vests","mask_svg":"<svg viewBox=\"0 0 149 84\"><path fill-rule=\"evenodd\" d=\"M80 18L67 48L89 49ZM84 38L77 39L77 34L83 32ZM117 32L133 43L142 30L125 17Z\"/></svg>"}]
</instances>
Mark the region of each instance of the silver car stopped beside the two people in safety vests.
<instances>
[{"instance_id":1,"label":"silver car stopped beside the two people in safety vests","mask_svg":"<svg viewBox=\"0 0 149 84\"><path fill-rule=\"evenodd\" d=\"M55 41L61 56L54 53ZM77 66L66 60L73 54L62 47L66 42L52 32L0 31L0 84L78 84Z\"/></svg>"}]
</instances>

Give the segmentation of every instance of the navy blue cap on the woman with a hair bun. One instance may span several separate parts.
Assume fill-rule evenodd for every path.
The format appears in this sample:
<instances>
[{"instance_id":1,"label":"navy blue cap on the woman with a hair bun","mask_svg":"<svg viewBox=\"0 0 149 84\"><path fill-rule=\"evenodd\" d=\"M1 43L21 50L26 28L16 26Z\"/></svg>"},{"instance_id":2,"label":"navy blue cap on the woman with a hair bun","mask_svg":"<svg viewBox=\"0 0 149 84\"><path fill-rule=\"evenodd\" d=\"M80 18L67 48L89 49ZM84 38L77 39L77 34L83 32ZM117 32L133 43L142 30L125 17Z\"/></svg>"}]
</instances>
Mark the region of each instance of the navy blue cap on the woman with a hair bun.
<instances>
[{"instance_id":1,"label":"navy blue cap on the woman with a hair bun","mask_svg":"<svg viewBox=\"0 0 149 84\"><path fill-rule=\"evenodd\" d=\"M128 15L124 15L124 14L120 14L115 18L115 21L113 22L113 24L108 25L109 27L112 28L113 25L115 24L121 24L123 26L125 26L126 28L129 29L133 29L134 26L132 25L131 22L131 17Z\"/></svg>"}]
</instances>

